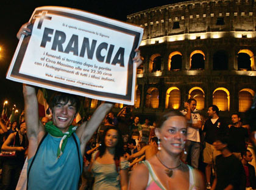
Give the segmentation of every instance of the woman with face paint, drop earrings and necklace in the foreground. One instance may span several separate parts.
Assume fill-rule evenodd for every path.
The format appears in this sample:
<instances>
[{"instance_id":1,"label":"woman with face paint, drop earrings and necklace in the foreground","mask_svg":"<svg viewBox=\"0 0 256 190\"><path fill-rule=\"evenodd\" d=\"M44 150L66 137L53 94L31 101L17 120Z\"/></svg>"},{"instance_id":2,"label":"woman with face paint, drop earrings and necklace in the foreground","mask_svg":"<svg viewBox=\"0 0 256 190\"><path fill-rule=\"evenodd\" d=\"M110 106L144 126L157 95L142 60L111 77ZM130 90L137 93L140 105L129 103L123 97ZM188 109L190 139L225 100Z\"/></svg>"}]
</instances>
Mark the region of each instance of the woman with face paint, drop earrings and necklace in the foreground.
<instances>
[{"instance_id":1,"label":"woman with face paint, drop earrings and necklace in the foreground","mask_svg":"<svg viewBox=\"0 0 256 190\"><path fill-rule=\"evenodd\" d=\"M180 112L169 112L157 121L156 127L160 151L132 172L129 189L205 189L199 171L180 161L187 138L185 117Z\"/></svg>"}]
</instances>

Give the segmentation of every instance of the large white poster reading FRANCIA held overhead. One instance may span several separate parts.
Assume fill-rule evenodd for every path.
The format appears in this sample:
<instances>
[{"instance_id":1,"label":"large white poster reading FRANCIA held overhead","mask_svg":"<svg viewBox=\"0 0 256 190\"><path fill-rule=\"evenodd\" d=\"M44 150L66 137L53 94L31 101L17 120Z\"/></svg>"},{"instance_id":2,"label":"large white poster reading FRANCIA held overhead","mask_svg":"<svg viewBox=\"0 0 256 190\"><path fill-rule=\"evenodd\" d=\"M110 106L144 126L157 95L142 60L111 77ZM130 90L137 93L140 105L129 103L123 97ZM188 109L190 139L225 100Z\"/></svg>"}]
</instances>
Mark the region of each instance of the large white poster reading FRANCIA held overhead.
<instances>
[{"instance_id":1,"label":"large white poster reading FRANCIA held overhead","mask_svg":"<svg viewBox=\"0 0 256 190\"><path fill-rule=\"evenodd\" d=\"M30 22L8 79L133 105L141 27L63 7L38 7Z\"/></svg>"}]
</instances>

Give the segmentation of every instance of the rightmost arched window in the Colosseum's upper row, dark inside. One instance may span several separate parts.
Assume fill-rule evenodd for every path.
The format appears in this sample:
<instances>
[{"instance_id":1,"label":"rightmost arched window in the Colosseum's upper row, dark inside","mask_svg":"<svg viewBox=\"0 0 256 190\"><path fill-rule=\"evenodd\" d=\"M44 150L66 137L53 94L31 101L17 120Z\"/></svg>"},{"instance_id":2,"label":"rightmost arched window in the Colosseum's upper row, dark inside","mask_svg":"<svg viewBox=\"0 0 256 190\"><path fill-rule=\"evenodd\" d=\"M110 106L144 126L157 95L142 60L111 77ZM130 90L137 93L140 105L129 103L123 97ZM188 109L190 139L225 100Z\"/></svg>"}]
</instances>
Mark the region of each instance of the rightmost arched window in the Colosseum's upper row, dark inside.
<instances>
[{"instance_id":1,"label":"rightmost arched window in the Colosseum's upper row, dark inside","mask_svg":"<svg viewBox=\"0 0 256 190\"><path fill-rule=\"evenodd\" d=\"M251 50L243 49L238 52L238 70L254 70L254 53Z\"/></svg>"}]
</instances>

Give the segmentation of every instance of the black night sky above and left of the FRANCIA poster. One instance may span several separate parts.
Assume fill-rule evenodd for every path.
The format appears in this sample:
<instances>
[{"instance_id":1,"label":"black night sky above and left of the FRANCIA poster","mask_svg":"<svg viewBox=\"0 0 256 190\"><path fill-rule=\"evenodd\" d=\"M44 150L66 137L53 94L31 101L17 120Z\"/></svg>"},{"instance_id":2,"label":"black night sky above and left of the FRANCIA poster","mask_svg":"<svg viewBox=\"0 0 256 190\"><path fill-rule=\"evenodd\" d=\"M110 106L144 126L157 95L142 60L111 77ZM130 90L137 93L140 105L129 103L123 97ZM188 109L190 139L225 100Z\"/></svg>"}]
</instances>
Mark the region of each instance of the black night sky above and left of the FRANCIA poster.
<instances>
[{"instance_id":1,"label":"black night sky above and left of the FRANCIA poster","mask_svg":"<svg viewBox=\"0 0 256 190\"><path fill-rule=\"evenodd\" d=\"M172 4L176 1L113 1L113 0L69 0L69 1L16 1L16 0L1 0L0 2L0 106L4 100L8 100L10 104L16 104L18 109L23 109L23 95L21 83L15 83L5 79L5 74L12 60L13 53L15 52L18 44L16 33L21 25L29 21L30 16L36 7L55 5L62 7L77 8L87 12L96 13L98 15L107 16L109 18L126 21L126 16L132 13L140 12L148 8L158 7L162 5ZM0 109L1 111L2 109Z\"/></svg>"}]
</instances>

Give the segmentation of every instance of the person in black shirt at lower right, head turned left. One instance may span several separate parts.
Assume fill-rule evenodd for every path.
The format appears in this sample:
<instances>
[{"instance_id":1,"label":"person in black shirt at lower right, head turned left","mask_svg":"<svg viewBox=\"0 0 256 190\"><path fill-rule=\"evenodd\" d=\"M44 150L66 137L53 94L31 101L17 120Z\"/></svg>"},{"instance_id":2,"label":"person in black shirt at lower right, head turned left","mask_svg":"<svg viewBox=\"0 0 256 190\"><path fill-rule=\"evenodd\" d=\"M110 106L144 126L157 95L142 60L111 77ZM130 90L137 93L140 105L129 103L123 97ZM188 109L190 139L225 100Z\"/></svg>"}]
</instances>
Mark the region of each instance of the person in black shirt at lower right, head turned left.
<instances>
[{"instance_id":1,"label":"person in black shirt at lower right, head turned left","mask_svg":"<svg viewBox=\"0 0 256 190\"><path fill-rule=\"evenodd\" d=\"M211 190L245 189L243 165L230 151L229 139L219 137L213 144L221 155L216 157L216 176Z\"/></svg>"}]
</instances>

